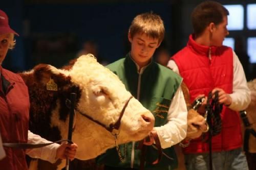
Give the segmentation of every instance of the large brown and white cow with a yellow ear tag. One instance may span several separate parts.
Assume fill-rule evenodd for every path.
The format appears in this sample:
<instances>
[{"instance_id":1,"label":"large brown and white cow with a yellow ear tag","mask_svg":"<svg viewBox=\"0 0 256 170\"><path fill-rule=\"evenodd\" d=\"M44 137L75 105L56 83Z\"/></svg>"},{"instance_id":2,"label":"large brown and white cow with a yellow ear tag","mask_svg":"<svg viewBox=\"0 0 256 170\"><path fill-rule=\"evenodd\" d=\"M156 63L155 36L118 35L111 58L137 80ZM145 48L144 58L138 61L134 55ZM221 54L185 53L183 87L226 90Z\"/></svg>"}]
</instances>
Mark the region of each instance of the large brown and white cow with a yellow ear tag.
<instances>
[{"instance_id":1,"label":"large brown and white cow with a yellow ear tag","mask_svg":"<svg viewBox=\"0 0 256 170\"><path fill-rule=\"evenodd\" d=\"M118 144L141 140L153 129L153 114L132 98L118 77L92 55L81 56L63 69L39 64L20 76L29 89L30 130L51 141L67 139L69 109L66 100L71 92L77 93L72 138L79 146L77 159L92 159L115 147L113 134L99 124L107 128L115 124L122 109L119 132L113 132L118 133ZM62 161L38 169L64 166L65 161Z\"/></svg>"}]
</instances>

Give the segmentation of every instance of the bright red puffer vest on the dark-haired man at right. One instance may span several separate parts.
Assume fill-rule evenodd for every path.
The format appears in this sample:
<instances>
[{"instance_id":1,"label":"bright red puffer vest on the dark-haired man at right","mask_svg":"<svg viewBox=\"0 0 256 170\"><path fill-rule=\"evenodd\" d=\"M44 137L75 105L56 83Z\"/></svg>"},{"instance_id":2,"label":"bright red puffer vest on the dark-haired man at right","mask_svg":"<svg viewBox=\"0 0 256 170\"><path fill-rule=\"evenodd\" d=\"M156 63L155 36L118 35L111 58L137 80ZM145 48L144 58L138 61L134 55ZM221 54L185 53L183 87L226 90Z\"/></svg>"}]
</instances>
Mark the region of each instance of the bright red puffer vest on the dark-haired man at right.
<instances>
[{"instance_id":1,"label":"bright red puffer vest on the dark-haired man at right","mask_svg":"<svg viewBox=\"0 0 256 170\"><path fill-rule=\"evenodd\" d=\"M211 60L209 59L211 57ZM181 77L187 85L190 102L199 94L208 95L215 87L232 93L233 84L233 52L227 46L203 46L197 44L193 36L189 36L187 46L172 57L179 68ZM240 116L238 112L223 106L221 113L221 134L212 138L212 151L228 151L242 146ZM208 143L202 138L191 140L184 153L208 152Z\"/></svg>"}]
</instances>

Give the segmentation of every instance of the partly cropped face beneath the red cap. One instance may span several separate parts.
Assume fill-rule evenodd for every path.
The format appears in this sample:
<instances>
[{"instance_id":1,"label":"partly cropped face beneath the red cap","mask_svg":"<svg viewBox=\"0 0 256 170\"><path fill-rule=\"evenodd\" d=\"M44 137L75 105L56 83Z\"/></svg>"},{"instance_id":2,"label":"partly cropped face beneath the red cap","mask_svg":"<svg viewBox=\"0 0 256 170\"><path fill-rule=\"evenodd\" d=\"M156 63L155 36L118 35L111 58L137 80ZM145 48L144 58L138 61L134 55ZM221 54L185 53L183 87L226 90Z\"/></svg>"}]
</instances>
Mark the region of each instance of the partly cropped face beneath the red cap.
<instances>
[{"instance_id":1,"label":"partly cropped face beneath the red cap","mask_svg":"<svg viewBox=\"0 0 256 170\"><path fill-rule=\"evenodd\" d=\"M10 43L10 34L2 34L0 35L0 65L4 61L6 54L9 49Z\"/></svg>"}]
</instances>

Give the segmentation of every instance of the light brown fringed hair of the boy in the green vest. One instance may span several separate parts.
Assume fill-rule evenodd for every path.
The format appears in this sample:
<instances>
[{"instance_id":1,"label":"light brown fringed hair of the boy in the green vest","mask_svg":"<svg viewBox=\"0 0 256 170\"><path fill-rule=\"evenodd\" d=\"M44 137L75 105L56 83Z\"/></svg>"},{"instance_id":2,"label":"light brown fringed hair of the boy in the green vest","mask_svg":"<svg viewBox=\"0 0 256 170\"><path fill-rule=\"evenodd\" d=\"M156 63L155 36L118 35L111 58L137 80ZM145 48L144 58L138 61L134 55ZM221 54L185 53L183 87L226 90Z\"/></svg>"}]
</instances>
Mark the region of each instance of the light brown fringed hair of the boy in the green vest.
<instances>
[{"instance_id":1,"label":"light brown fringed hair of the boy in the green vest","mask_svg":"<svg viewBox=\"0 0 256 170\"><path fill-rule=\"evenodd\" d=\"M133 19L129 32L132 38L137 33L145 33L147 36L157 38L159 42L162 42L165 32L163 20L153 12L139 14Z\"/></svg>"}]
</instances>

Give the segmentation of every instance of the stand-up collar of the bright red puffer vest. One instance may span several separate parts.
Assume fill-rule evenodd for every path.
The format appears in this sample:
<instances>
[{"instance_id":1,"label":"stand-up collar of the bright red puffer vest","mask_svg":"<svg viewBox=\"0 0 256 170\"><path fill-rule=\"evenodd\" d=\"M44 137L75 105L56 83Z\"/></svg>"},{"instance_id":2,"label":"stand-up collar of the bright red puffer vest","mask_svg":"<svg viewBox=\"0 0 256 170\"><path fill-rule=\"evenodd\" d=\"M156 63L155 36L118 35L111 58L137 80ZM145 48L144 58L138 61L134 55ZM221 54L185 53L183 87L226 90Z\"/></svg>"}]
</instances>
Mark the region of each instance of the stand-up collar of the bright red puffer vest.
<instances>
[{"instance_id":1,"label":"stand-up collar of the bright red puffer vest","mask_svg":"<svg viewBox=\"0 0 256 170\"><path fill-rule=\"evenodd\" d=\"M189 35L187 46L189 48L192 48L192 50L195 53L198 53L200 55L206 55L207 57L209 56L209 51L210 51L211 54L216 54L217 49L218 49L217 46L213 46L213 45L212 46L205 46L205 45L198 44L194 40L194 34Z\"/></svg>"}]
</instances>

